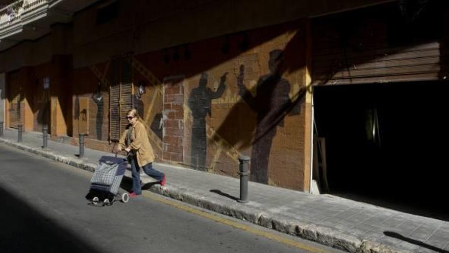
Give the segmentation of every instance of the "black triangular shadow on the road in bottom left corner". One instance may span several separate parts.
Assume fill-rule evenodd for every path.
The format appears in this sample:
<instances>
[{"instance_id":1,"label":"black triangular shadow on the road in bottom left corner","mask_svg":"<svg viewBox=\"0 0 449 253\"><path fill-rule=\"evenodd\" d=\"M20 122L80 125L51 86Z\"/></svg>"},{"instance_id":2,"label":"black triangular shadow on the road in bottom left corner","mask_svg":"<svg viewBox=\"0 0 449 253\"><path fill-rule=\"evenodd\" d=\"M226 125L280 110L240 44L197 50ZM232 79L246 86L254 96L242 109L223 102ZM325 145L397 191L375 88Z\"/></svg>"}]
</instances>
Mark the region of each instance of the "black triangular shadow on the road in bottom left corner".
<instances>
[{"instance_id":1,"label":"black triangular shadow on the road in bottom left corner","mask_svg":"<svg viewBox=\"0 0 449 253\"><path fill-rule=\"evenodd\" d=\"M2 252L103 252L1 187L0 202Z\"/></svg>"}]
</instances>

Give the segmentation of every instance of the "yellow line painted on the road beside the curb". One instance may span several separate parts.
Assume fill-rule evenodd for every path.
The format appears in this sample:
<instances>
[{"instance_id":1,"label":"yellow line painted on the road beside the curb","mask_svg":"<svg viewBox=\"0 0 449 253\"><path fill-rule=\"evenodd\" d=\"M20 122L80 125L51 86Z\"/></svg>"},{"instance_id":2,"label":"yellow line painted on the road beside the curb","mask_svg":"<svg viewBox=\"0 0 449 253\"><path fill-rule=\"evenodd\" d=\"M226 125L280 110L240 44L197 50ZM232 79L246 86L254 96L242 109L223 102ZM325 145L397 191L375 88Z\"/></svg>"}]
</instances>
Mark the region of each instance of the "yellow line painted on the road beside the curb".
<instances>
[{"instance_id":1,"label":"yellow line painted on the road beside the curb","mask_svg":"<svg viewBox=\"0 0 449 253\"><path fill-rule=\"evenodd\" d=\"M198 209L194 209L194 208L191 208L190 206L187 206L185 204L181 204L181 203L179 203L177 201L173 201L173 200L169 200L169 199L166 199L166 198L158 197L154 193L143 192L142 194L145 197L151 198L152 200L155 200L155 201L167 204L167 205L171 205L174 208L178 208L180 210L183 210L183 211L186 211L186 212L189 212L189 213L192 213L192 214L195 214L195 215L207 218L209 220L220 222L222 224L226 224L226 225L229 225L229 226L241 229L243 231L246 231L246 232L258 235L258 236L263 236L265 238L268 238L268 239L276 241L276 242L280 242L280 243L283 243L283 244L286 244L286 245L289 245L289 246L293 246L293 247L296 247L296 248L301 248L301 249L304 249L304 250L307 250L307 251L310 251L310 252L313 252L313 253L328 253L328 252L330 252L330 251L326 251L326 250L323 250L323 249L315 247L315 246L307 245L305 243L297 242L297 241L290 240L290 239L282 237L282 236L277 236L277 235L272 234L272 233L261 231L260 229L256 229L256 228L253 228L253 227L250 227L250 226L246 226L244 224L241 224L241 223L238 223L238 222L226 219L226 218L222 218L222 217L220 217L218 215L215 215L215 214L210 214L210 213L206 213L204 211L198 210Z\"/></svg>"}]
</instances>

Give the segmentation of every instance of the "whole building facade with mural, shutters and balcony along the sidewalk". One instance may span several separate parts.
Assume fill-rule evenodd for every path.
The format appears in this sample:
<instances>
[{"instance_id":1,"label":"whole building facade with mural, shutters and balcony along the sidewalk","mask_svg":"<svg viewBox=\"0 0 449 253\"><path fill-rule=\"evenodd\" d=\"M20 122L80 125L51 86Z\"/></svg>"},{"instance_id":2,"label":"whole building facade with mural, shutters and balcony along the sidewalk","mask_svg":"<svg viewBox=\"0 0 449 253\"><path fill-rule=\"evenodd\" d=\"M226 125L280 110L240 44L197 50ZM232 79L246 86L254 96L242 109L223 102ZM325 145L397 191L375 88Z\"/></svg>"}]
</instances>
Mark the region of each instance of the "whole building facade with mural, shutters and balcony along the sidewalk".
<instances>
[{"instance_id":1,"label":"whole building facade with mural, shutters and balcony along the sidewalk","mask_svg":"<svg viewBox=\"0 0 449 253\"><path fill-rule=\"evenodd\" d=\"M256 182L356 191L357 165L378 170L367 161L392 151L376 147L400 144L379 133L400 107L381 112L370 88L445 90L447 15L432 1L19 2L0 11L6 126L73 145L82 133L112 151L136 107L159 162L236 177L247 155Z\"/></svg>"}]
</instances>

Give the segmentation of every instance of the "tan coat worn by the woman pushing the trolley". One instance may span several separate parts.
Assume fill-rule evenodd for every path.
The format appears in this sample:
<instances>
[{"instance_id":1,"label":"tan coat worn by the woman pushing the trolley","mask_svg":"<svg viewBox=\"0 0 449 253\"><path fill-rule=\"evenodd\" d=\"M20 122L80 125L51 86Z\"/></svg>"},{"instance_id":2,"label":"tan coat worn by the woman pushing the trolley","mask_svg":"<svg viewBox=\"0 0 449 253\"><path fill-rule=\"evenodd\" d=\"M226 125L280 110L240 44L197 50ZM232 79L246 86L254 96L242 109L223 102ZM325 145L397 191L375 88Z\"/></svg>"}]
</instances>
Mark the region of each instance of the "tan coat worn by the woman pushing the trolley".
<instances>
[{"instance_id":1,"label":"tan coat worn by the woman pushing the trolley","mask_svg":"<svg viewBox=\"0 0 449 253\"><path fill-rule=\"evenodd\" d=\"M139 167L153 163L155 155L151 144L149 144L145 126L140 121L136 121L133 126L130 126L127 130L123 131L119 141L119 145L122 149L126 148L128 131L131 131L131 145L129 147L132 151L137 153L136 156Z\"/></svg>"}]
</instances>

